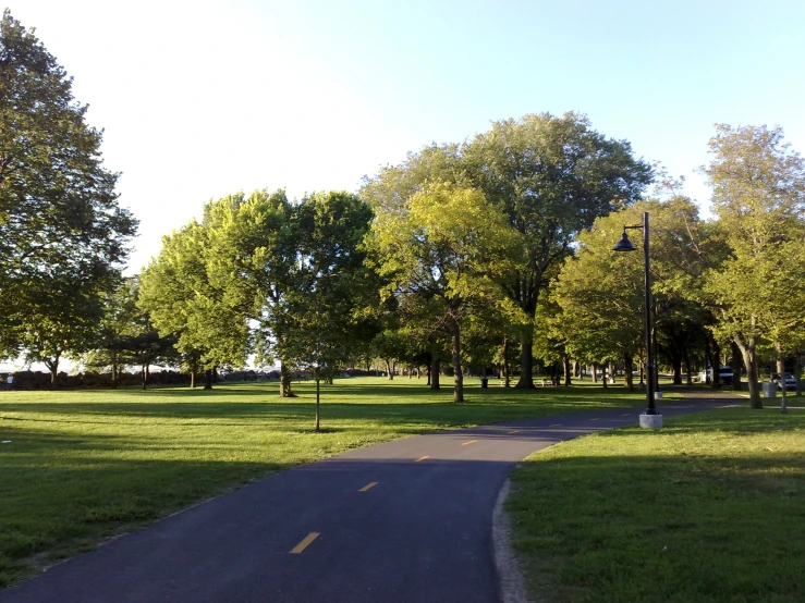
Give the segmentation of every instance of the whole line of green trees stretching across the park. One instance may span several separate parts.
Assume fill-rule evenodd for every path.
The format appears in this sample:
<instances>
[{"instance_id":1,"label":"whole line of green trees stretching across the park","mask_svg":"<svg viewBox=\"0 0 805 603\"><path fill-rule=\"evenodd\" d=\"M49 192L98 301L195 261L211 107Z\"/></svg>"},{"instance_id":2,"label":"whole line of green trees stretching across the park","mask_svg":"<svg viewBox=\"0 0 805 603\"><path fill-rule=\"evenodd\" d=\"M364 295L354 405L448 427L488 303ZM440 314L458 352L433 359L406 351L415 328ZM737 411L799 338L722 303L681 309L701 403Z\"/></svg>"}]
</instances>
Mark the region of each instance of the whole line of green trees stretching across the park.
<instances>
[{"instance_id":1,"label":"whole line of green trees stretching across the park","mask_svg":"<svg viewBox=\"0 0 805 603\"><path fill-rule=\"evenodd\" d=\"M293 395L291 371L318 384L375 359L389 376L395 364L425 367L435 389L444 368L455 402L467 367L533 387L539 365L562 367L569 383L573 362L617 361L632 386L646 357L643 261L611 248L648 211L654 341L675 380L683 367L690 379L694 367L741 360L759 407L765 361L800 372L805 168L780 128L717 126L702 168L712 220L584 115L530 114L411 153L357 194L210 201L123 280L136 222L100 167L100 136L83 125L63 70L8 12L2 34L15 52L0 69L16 88L0 94L32 96L13 106L28 112L15 123L37 134L69 118L81 133L51 139L47 130L41 148L1 134L16 170L0 182L2 250L14 258L0 276L4 356L23 353L57 374L70 354L113 380L124 366L144 378L151 365L181 366L207 386L217 368L277 361L282 396ZM26 52L47 65L41 81Z\"/></svg>"}]
</instances>

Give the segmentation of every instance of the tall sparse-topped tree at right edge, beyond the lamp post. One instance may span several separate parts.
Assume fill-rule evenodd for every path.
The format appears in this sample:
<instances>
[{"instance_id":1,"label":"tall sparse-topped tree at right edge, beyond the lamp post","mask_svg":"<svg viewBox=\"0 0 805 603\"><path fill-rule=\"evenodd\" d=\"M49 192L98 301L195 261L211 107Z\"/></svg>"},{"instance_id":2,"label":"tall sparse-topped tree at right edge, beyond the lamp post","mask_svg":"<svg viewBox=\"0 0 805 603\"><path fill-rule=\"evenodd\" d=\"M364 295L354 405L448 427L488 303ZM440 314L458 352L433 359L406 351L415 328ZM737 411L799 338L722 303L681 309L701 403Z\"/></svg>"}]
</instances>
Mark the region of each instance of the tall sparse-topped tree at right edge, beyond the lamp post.
<instances>
[{"instance_id":1,"label":"tall sparse-topped tree at right edge, beyond the lamp post","mask_svg":"<svg viewBox=\"0 0 805 603\"><path fill-rule=\"evenodd\" d=\"M729 257L706 273L716 332L741 350L753 408L763 408L758 346L782 355L785 333L803 323L805 302L805 162L780 127L720 124L703 171Z\"/></svg>"}]
</instances>

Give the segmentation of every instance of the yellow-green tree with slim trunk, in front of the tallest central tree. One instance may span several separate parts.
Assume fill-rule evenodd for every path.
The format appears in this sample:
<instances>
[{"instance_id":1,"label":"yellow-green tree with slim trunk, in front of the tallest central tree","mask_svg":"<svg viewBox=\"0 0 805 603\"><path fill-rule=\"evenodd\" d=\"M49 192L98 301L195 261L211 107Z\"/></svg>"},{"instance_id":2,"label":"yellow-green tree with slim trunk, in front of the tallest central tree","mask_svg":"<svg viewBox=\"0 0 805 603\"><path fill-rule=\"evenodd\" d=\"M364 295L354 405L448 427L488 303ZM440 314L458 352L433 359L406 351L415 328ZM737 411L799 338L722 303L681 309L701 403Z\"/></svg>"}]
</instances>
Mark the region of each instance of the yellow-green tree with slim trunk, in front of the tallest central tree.
<instances>
[{"instance_id":1,"label":"yellow-green tree with slim trunk, in front of the tallest central tree","mask_svg":"<svg viewBox=\"0 0 805 603\"><path fill-rule=\"evenodd\" d=\"M473 304L502 304L491 276L509 266L517 237L483 193L428 185L405 212L380 213L373 244L387 295L418 298L450 333L454 402L464 401L461 330Z\"/></svg>"}]
</instances>

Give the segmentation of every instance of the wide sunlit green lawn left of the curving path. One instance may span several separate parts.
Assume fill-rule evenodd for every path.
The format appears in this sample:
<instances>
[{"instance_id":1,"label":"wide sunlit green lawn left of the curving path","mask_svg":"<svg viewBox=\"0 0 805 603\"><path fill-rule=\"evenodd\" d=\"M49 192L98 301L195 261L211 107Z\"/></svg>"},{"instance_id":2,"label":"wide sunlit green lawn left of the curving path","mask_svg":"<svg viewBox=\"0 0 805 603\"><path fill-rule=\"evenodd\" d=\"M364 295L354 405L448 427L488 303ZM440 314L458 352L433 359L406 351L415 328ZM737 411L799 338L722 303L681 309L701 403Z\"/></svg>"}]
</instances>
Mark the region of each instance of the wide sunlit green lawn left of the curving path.
<instances>
[{"instance_id":1,"label":"wide sunlit green lawn left of the curving path","mask_svg":"<svg viewBox=\"0 0 805 603\"><path fill-rule=\"evenodd\" d=\"M428 431L642 405L591 385L481 390L451 403L425 380L339 380L277 397L276 383L190 389L0 392L0 586L249 480L347 448Z\"/></svg>"}]
</instances>

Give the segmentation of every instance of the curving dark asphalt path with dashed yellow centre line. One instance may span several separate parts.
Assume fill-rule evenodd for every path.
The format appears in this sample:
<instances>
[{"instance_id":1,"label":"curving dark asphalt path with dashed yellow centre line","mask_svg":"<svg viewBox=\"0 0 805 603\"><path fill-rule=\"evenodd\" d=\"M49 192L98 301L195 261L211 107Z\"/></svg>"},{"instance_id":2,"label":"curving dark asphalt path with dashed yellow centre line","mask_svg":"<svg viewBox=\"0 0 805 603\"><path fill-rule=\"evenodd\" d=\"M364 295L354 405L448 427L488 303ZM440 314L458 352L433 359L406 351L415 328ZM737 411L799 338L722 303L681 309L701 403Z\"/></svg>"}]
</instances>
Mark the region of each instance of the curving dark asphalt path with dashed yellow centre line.
<instances>
[{"instance_id":1,"label":"curving dark asphalt path with dashed yellow centre line","mask_svg":"<svg viewBox=\"0 0 805 603\"><path fill-rule=\"evenodd\" d=\"M664 418L734 404L662 404ZM272 475L0 591L11 602L500 600L498 492L529 454L637 421L617 408L397 440Z\"/></svg>"}]
</instances>

